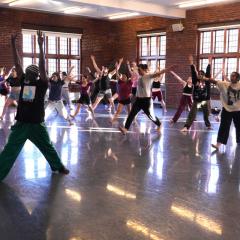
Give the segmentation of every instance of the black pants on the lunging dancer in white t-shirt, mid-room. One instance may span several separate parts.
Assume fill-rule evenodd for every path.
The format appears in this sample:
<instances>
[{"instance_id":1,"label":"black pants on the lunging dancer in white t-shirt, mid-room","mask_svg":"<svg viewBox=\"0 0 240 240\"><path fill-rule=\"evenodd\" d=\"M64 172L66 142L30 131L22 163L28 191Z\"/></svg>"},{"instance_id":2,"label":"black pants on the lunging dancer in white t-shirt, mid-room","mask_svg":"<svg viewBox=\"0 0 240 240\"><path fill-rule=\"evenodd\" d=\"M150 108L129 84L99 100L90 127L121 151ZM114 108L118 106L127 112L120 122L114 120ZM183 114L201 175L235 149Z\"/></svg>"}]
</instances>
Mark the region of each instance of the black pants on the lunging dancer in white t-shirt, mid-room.
<instances>
[{"instance_id":1,"label":"black pants on the lunging dancer in white t-shirt, mid-room","mask_svg":"<svg viewBox=\"0 0 240 240\"><path fill-rule=\"evenodd\" d=\"M135 116L138 114L140 110L143 110L144 113L148 116L148 118L153 121L157 126L161 125L161 122L157 117L155 119L150 113L150 107L151 107L151 98L137 98L134 102L132 109L128 115L127 121L125 123L125 128L129 129L132 121L134 120Z\"/></svg>"}]
</instances>

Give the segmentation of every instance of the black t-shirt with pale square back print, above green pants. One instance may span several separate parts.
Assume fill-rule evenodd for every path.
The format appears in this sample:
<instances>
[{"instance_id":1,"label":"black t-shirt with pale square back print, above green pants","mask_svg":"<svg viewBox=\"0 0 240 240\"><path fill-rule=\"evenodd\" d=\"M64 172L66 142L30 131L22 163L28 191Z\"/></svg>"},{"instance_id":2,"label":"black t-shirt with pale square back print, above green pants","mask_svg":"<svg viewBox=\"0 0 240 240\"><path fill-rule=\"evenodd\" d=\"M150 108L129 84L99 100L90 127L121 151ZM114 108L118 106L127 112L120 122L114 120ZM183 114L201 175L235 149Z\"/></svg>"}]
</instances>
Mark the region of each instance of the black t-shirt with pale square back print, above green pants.
<instances>
[{"instance_id":1,"label":"black t-shirt with pale square back print, above green pants","mask_svg":"<svg viewBox=\"0 0 240 240\"><path fill-rule=\"evenodd\" d=\"M44 122L44 97L48 89L48 81L41 79L27 82L23 74L16 120L24 123Z\"/></svg>"}]
</instances>

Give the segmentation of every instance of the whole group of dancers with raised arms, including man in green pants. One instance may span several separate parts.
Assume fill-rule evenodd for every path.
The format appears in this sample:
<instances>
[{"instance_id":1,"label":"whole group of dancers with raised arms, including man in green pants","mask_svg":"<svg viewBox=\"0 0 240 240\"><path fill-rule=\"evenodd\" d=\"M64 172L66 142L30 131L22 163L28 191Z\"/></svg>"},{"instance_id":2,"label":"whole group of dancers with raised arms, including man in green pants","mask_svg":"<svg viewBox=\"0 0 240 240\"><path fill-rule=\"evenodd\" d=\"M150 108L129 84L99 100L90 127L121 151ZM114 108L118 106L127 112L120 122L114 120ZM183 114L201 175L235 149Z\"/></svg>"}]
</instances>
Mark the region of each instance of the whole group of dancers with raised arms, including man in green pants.
<instances>
[{"instance_id":1,"label":"whole group of dancers with raised arms, including man in green pants","mask_svg":"<svg viewBox=\"0 0 240 240\"><path fill-rule=\"evenodd\" d=\"M213 78L211 77L211 59L209 59L206 72L204 72L203 70L196 70L193 57L190 56L189 64L191 77L184 81L173 71L175 66L170 66L162 70L158 69L155 73L150 73L147 64L137 65L136 62L133 62L130 65L129 61L127 61L128 71L126 72L122 70L124 68L122 68L123 58L121 58L110 71L110 69L105 66L99 68L95 57L92 55L91 61L96 71L95 74L88 68L88 74L82 75L81 80L76 81L71 74L73 67L70 67L68 73L63 72L60 76L59 73L55 72L49 79L45 68L43 33L38 31L37 36L40 49L39 66L29 65L25 73L16 49L17 35L12 35L11 38L15 66L11 70L10 77L4 76L1 79L2 83L6 82L11 86L10 94L5 101L1 119L3 119L6 108L12 103L17 104L17 113L15 117L16 122L11 128L8 142L0 154L0 180L4 179L10 171L27 139L39 148L48 161L52 171L58 171L62 174L69 173L69 170L66 169L61 162L59 155L50 141L44 124L45 109L56 109L59 115L66 119L69 124L72 124L72 119L79 113L81 106L86 105L92 117L94 117L95 109L101 100L105 98L109 102L110 111L114 113L111 119L112 123L117 120L123 107L126 106L128 116L124 126L119 127L123 134L127 133L140 111L146 114L146 116L157 126L157 131L160 132L161 122L158 117L154 116L151 111L151 106L152 99L158 97L158 100L162 104L163 111L167 111L160 89L160 83L166 72L172 74L183 86L180 104L176 114L170 120L171 125L178 121L184 109L189 108L190 112L181 130L183 132L188 131L196 118L198 109L201 108L207 129L212 129L209 121L209 103L211 84L215 84L220 92L223 109L221 112L221 123L218 131L217 143L212 144L212 147L218 150L222 144L227 144L232 121L236 128L236 141L240 144L240 83L239 74L237 72L231 74L230 80L216 81L216 76ZM113 79L114 75L116 76L115 79ZM112 95L110 86L111 81L117 83L117 92L114 95ZM65 95L66 105L71 108L68 92L68 84L71 82L79 84L80 87L80 98L77 101L74 113L67 111L66 106L63 104L63 96ZM7 84L5 93L9 91ZM49 98L46 103L45 95L49 86ZM94 88L92 90L93 86ZM0 93L4 93L4 91L0 89ZM114 104L115 99L118 99L116 111ZM92 101L93 104L91 104Z\"/></svg>"}]
</instances>

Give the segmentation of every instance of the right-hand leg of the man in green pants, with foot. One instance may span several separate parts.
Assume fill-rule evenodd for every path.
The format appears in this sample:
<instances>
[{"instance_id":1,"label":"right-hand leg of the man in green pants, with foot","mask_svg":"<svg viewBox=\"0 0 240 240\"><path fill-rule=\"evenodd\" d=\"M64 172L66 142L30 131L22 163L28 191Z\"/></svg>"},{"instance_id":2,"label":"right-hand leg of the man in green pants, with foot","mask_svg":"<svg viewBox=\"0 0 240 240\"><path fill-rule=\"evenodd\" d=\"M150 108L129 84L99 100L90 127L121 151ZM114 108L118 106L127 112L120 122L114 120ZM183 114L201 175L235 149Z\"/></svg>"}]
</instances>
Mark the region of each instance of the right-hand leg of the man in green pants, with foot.
<instances>
[{"instance_id":1,"label":"right-hand leg of the man in green pants, with foot","mask_svg":"<svg viewBox=\"0 0 240 240\"><path fill-rule=\"evenodd\" d=\"M34 134L29 135L29 140L35 144L44 155L52 171L62 172L65 167L61 162L61 159L53 144L51 143L45 124L32 124L32 132ZM62 173L67 174L67 172L64 171Z\"/></svg>"}]
</instances>

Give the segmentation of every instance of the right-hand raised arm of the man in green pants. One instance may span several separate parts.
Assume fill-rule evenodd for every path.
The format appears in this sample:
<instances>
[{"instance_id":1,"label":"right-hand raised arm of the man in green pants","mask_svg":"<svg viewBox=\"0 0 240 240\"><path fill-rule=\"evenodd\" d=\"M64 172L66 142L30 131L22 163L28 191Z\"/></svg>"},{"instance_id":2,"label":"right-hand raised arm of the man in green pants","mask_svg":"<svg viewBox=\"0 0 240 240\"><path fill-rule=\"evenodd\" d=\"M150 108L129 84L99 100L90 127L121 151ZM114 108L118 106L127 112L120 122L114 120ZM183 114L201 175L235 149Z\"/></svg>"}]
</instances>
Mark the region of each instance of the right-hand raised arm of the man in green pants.
<instances>
[{"instance_id":1,"label":"right-hand raised arm of the man in green pants","mask_svg":"<svg viewBox=\"0 0 240 240\"><path fill-rule=\"evenodd\" d=\"M40 72L40 78L42 81L48 81L47 73L46 73L46 67L45 67L45 55L43 52L43 42L44 42L44 36L42 31L37 31L37 37L38 37L38 46L39 46L39 72Z\"/></svg>"}]
</instances>

